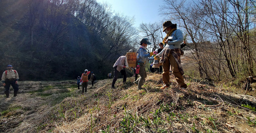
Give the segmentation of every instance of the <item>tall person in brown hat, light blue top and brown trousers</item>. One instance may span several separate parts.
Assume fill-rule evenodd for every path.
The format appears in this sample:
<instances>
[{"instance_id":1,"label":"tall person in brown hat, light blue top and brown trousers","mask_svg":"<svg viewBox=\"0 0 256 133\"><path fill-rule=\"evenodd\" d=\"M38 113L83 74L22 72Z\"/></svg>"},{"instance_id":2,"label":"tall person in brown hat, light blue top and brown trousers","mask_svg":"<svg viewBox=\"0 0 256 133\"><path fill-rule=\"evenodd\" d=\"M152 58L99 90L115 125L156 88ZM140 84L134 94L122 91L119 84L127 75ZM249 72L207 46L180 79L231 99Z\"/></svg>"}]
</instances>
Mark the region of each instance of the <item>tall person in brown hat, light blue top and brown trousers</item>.
<instances>
[{"instance_id":1,"label":"tall person in brown hat, light blue top and brown trousers","mask_svg":"<svg viewBox=\"0 0 256 133\"><path fill-rule=\"evenodd\" d=\"M177 29L177 24L173 24L171 21L165 21L163 23L163 32L167 35L163 40L163 43L166 44L164 50L158 53L156 57L161 57L160 63L163 63L163 82L164 85L161 89L169 88L170 84L170 75L169 70L172 68L173 75L176 77L176 81L180 85L181 89L187 88L183 79L183 68L180 62L180 56L184 52L180 49L180 43L183 42L182 31Z\"/></svg>"}]
</instances>

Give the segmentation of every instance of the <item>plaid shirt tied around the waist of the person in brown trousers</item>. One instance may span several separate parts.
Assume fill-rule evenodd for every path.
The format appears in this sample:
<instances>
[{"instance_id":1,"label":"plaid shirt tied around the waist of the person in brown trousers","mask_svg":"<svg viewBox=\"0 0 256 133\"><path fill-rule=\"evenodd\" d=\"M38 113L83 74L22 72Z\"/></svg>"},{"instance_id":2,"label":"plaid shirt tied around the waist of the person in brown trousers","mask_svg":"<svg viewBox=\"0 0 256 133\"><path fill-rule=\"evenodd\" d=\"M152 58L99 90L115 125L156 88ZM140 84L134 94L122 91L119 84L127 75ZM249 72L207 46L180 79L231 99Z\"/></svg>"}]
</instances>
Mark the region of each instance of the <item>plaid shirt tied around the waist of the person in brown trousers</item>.
<instances>
[{"instance_id":1,"label":"plaid shirt tied around the waist of the person in brown trousers","mask_svg":"<svg viewBox=\"0 0 256 133\"><path fill-rule=\"evenodd\" d=\"M164 52L163 52L163 55L161 57L160 63L164 63L165 60L168 60L170 54L173 55L175 61L178 64L179 71L180 71L181 75L183 75L184 71L183 71L183 68L182 68L182 65L181 65L181 62L180 62L180 56L182 56L184 54L184 52L181 49L164 48Z\"/></svg>"}]
</instances>

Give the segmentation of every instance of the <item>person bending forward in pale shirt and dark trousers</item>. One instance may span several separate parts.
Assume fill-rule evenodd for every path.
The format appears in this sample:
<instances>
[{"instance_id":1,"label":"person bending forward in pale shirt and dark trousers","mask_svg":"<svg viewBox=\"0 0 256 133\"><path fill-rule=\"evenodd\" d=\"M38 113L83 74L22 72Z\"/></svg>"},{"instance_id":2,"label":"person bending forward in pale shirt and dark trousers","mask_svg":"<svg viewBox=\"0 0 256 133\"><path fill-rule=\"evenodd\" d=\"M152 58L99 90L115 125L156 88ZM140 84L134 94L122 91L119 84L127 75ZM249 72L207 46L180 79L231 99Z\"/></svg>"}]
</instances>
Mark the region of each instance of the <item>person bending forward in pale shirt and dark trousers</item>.
<instances>
[{"instance_id":1,"label":"person bending forward in pale shirt and dark trousers","mask_svg":"<svg viewBox=\"0 0 256 133\"><path fill-rule=\"evenodd\" d=\"M114 66L114 78L112 81L112 86L111 88L115 88L115 82L118 79L118 73L121 72L121 75L123 75L123 83L126 82L126 72L125 72L125 68L128 68L128 64L125 61L125 56L120 56Z\"/></svg>"}]
</instances>

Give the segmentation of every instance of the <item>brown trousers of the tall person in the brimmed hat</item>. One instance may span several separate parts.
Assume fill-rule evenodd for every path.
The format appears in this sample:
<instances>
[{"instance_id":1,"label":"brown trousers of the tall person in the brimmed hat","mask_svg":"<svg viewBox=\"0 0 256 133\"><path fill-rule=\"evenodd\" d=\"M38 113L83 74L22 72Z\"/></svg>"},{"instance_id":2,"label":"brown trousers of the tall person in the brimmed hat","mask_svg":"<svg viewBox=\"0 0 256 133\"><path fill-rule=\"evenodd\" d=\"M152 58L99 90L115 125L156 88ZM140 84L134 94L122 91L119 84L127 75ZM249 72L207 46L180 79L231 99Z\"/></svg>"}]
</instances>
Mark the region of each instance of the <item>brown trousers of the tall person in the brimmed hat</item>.
<instances>
[{"instance_id":1,"label":"brown trousers of the tall person in the brimmed hat","mask_svg":"<svg viewBox=\"0 0 256 133\"><path fill-rule=\"evenodd\" d=\"M173 75L176 78L176 81L180 85L180 87L187 87L187 84L185 84L182 74L179 71L178 64L176 60L174 59L173 55L170 54L169 59L165 60L163 63L163 82L166 85L170 84L170 67L172 68Z\"/></svg>"}]
</instances>

